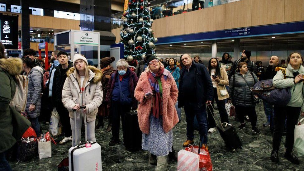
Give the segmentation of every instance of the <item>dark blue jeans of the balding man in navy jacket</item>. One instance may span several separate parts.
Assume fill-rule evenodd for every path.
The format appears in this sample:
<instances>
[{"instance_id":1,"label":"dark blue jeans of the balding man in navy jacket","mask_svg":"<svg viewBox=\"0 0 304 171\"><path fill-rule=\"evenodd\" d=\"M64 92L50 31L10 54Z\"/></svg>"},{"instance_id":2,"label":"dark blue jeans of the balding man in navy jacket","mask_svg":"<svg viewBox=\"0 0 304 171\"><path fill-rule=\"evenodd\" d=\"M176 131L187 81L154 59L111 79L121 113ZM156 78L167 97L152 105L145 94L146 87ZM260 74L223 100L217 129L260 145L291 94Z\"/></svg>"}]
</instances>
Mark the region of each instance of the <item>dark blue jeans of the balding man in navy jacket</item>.
<instances>
[{"instance_id":1,"label":"dark blue jeans of the balding man in navy jacket","mask_svg":"<svg viewBox=\"0 0 304 171\"><path fill-rule=\"evenodd\" d=\"M203 144L207 144L208 125L207 125L207 112L206 105L198 107L197 103L186 103L184 105L187 122L187 138L188 140L194 139L194 116L198 121L200 140ZM205 136L205 137L204 137Z\"/></svg>"}]
</instances>

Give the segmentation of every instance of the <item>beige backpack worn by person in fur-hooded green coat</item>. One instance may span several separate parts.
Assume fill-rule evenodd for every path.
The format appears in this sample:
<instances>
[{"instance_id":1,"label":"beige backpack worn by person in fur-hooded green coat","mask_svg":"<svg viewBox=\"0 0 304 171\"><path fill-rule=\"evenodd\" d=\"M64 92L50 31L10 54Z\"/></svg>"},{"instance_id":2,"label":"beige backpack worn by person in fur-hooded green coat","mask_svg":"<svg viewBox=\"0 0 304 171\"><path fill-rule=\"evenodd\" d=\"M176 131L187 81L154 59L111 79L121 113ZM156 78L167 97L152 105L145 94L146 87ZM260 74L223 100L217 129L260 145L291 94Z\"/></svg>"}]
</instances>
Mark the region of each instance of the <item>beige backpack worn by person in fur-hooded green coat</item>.
<instances>
[{"instance_id":1,"label":"beige backpack worn by person in fur-hooded green coat","mask_svg":"<svg viewBox=\"0 0 304 171\"><path fill-rule=\"evenodd\" d=\"M18 112L24 112L27 101L29 79L24 75L16 76L16 91L10 102L10 106L14 107Z\"/></svg>"}]
</instances>

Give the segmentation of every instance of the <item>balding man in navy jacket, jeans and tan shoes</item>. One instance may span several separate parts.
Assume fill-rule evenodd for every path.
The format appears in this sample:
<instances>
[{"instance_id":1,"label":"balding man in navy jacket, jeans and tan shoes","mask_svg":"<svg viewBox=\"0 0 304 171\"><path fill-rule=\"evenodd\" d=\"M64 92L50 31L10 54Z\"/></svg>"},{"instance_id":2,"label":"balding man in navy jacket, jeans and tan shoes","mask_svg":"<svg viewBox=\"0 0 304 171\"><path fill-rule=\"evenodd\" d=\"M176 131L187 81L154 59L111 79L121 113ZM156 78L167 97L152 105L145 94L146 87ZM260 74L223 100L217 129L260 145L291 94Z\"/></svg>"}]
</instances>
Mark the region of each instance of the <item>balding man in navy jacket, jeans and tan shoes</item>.
<instances>
[{"instance_id":1,"label":"balding man in navy jacket, jeans and tan shoes","mask_svg":"<svg viewBox=\"0 0 304 171\"><path fill-rule=\"evenodd\" d=\"M200 140L207 144L207 112L206 103L211 103L213 86L207 68L203 64L196 64L190 55L183 55L184 67L178 88L178 107L184 107L187 121L187 141L183 146L193 144L194 117L199 124Z\"/></svg>"}]
</instances>

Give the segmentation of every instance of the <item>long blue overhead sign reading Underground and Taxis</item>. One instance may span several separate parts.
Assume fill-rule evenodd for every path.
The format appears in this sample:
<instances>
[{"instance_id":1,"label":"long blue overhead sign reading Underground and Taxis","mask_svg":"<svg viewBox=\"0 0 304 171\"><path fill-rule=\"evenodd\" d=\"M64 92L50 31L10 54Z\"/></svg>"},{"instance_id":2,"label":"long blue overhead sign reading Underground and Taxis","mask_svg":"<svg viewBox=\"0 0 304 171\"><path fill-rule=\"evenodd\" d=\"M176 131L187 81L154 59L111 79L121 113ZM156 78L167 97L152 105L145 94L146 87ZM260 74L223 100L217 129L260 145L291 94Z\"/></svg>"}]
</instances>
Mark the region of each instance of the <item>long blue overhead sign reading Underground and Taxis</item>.
<instances>
[{"instance_id":1,"label":"long blue overhead sign reading Underground and Taxis","mask_svg":"<svg viewBox=\"0 0 304 171\"><path fill-rule=\"evenodd\" d=\"M265 26L244 27L230 30L210 31L188 35L160 37L155 45L203 40L233 39L254 36L270 36L304 33L304 21Z\"/></svg>"}]
</instances>

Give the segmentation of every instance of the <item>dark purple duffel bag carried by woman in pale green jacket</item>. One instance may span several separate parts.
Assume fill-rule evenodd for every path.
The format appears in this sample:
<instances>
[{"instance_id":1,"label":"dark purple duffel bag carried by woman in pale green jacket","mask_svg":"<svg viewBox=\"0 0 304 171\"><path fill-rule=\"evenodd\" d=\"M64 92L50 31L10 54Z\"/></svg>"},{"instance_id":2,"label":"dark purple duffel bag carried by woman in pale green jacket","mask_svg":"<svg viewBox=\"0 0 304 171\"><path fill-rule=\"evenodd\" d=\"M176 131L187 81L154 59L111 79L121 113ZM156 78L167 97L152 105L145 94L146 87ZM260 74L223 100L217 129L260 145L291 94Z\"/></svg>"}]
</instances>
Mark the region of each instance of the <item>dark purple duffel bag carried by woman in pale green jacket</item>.
<instances>
[{"instance_id":1,"label":"dark purple duffel bag carried by woman in pale green jacket","mask_svg":"<svg viewBox=\"0 0 304 171\"><path fill-rule=\"evenodd\" d=\"M285 68L275 68L275 71L280 70L284 75L284 79L294 78L286 76ZM254 87L251 90L260 99L273 105L286 106L291 99L291 92L288 90L288 88L275 88L273 86L273 79L259 81L254 84Z\"/></svg>"}]
</instances>

